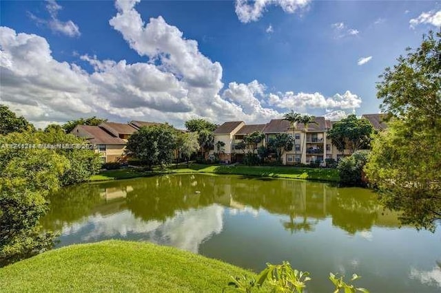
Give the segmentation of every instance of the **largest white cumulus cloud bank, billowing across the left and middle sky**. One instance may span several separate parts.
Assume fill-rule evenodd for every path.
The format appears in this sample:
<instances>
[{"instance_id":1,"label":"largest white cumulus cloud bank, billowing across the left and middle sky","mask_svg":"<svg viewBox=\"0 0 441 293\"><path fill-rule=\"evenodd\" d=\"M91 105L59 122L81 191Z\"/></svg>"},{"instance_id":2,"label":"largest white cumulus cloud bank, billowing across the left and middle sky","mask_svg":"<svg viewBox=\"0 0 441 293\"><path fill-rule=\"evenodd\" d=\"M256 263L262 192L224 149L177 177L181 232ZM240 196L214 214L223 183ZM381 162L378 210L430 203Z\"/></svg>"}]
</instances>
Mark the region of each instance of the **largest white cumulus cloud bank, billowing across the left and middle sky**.
<instances>
[{"instance_id":1,"label":"largest white cumulus cloud bank, billowing across the left and middle sky","mask_svg":"<svg viewBox=\"0 0 441 293\"><path fill-rule=\"evenodd\" d=\"M361 98L350 91L332 97L271 93L257 80L232 82L223 89L220 63L204 56L196 41L185 39L162 17L144 23L134 9L136 3L117 1L118 13L110 25L147 60L130 64L77 54L79 64L87 63L91 72L54 59L43 37L1 27L0 102L41 127L87 116L167 121L177 127L195 117L254 123L293 108L306 112L360 107Z\"/></svg>"}]
</instances>

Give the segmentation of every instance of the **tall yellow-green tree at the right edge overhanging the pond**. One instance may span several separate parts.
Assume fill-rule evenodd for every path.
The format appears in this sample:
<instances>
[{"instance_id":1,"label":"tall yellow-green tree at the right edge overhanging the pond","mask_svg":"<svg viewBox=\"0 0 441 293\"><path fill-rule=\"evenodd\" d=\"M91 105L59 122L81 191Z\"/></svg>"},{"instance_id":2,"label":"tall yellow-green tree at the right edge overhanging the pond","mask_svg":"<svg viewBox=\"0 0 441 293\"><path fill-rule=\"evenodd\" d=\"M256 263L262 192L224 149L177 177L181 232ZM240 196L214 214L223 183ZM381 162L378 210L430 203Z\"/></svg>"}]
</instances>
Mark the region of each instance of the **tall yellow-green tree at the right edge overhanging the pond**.
<instances>
[{"instance_id":1,"label":"tall yellow-green tree at the right edge overhanging the pond","mask_svg":"<svg viewBox=\"0 0 441 293\"><path fill-rule=\"evenodd\" d=\"M365 171L384 204L405 224L435 228L441 219L441 30L423 36L380 76L377 97L389 113Z\"/></svg>"}]
</instances>

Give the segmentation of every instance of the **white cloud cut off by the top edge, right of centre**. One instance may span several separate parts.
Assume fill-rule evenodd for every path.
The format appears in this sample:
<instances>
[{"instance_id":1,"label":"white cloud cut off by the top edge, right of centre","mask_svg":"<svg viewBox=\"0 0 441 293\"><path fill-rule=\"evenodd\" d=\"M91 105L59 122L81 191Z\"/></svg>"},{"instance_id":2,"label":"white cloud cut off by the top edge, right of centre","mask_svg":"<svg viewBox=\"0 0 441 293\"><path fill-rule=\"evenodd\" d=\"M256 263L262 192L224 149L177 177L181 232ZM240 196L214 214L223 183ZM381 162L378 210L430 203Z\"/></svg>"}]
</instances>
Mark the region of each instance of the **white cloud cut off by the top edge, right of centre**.
<instances>
[{"instance_id":1,"label":"white cloud cut off by the top edge, right of centre","mask_svg":"<svg viewBox=\"0 0 441 293\"><path fill-rule=\"evenodd\" d=\"M236 14L240 22L258 21L268 6L280 6L287 13L306 8L310 0L259 0L250 3L247 0L236 0Z\"/></svg>"}]
</instances>

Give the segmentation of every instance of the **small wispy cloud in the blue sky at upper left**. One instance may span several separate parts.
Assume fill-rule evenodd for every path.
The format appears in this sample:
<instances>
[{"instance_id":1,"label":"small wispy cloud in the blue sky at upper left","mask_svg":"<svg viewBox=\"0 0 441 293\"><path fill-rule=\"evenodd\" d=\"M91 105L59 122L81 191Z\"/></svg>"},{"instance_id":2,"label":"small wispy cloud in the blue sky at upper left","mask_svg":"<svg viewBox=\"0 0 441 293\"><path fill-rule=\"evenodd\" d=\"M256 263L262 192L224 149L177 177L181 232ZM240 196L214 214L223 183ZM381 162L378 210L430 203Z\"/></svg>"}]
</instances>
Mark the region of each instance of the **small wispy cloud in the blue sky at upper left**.
<instances>
[{"instance_id":1,"label":"small wispy cloud in the blue sky at upper left","mask_svg":"<svg viewBox=\"0 0 441 293\"><path fill-rule=\"evenodd\" d=\"M46 10L48 10L50 19L41 19L30 13L30 18L39 24L47 25L52 32L65 34L66 36L80 36L78 25L73 21L61 21L58 19L59 10L63 9L55 0L48 0Z\"/></svg>"}]
</instances>

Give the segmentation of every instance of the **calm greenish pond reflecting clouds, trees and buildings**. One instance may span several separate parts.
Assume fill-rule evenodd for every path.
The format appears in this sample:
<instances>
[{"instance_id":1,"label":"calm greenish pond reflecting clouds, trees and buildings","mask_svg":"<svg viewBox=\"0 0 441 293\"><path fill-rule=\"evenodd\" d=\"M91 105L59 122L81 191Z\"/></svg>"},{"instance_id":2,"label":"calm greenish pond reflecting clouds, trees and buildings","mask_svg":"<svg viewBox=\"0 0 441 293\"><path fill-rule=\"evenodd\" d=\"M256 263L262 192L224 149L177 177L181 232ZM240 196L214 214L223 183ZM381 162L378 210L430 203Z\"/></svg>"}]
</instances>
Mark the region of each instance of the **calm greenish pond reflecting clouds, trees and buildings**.
<instances>
[{"instance_id":1,"label":"calm greenish pond reflecting clouds, trees and buildings","mask_svg":"<svg viewBox=\"0 0 441 293\"><path fill-rule=\"evenodd\" d=\"M441 291L441 227L400 228L362 188L213 175L83 184L53 195L42 224L59 246L151 241L255 271L287 260L311 272L309 292L331 292L329 272L360 274L371 292Z\"/></svg>"}]
</instances>

